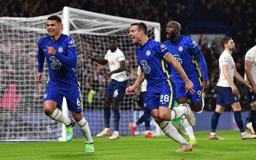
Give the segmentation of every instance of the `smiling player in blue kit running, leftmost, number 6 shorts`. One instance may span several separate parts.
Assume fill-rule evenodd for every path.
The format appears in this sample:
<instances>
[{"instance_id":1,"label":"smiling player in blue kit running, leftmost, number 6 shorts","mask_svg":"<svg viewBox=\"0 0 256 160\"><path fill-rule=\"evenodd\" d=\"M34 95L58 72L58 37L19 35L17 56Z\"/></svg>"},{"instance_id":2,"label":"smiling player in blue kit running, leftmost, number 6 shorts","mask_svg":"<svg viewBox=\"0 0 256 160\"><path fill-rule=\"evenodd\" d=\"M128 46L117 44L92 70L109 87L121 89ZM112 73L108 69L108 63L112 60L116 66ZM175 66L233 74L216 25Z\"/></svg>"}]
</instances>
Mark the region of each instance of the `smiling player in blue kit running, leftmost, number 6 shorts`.
<instances>
[{"instance_id":1,"label":"smiling player in blue kit running, leftmost, number 6 shorts","mask_svg":"<svg viewBox=\"0 0 256 160\"><path fill-rule=\"evenodd\" d=\"M73 138L73 127L76 122L85 137L85 152L94 152L88 121L82 114L83 102L79 82L73 70L77 64L75 42L71 37L62 34L61 28L62 20L59 16L48 17L46 27L48 36L38 41L36 82L42 83L45 57L49 70L47 89L43 99L44 113L53 120L65 124L67 142ZM59 110L62 106L63 96L66 98L67 108L75 120L64 116Z\"/></svg>"}]
</instances>

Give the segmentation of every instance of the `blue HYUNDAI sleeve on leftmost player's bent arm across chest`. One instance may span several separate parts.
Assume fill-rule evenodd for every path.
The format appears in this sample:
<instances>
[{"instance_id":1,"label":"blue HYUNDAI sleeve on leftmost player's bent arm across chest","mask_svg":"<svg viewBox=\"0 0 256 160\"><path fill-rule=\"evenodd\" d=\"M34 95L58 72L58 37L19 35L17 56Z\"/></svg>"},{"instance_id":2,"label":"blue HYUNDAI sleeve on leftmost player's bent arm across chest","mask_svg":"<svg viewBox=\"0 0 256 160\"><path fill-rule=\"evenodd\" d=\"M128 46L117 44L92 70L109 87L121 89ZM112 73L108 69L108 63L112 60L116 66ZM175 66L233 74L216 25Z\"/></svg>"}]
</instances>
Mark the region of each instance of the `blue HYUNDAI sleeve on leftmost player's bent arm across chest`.
<instances>
[{"instance_id":1,"label":"blue HYUNDAI sleeve on leftmost player's bent arm across chest","mask_svg":"<svg viewBox=\"0 0 256 160\"><path fill-rule=\"evenodd\" d=\"M67 46L67 56L60 53L58 50L56 50L55 56L59 58L62 62L64 62L69 67L75 68L77 64L77 53L76 53L76 47L74 40L70 40L68 43L66 43Z\"/></svg>"}]
</instances>

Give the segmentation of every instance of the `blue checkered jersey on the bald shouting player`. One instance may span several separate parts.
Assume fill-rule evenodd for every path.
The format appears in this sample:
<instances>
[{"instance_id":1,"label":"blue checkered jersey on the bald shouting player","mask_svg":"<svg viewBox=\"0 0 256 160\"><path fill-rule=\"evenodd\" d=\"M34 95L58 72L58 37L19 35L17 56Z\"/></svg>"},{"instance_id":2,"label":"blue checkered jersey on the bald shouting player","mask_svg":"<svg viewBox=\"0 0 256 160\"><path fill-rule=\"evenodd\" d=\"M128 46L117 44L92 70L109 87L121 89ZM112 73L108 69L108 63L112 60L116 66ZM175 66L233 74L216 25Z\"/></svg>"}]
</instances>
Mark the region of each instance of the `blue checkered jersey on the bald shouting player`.
<instances>
[{"instance_id":1,"label":"blue checkered jersey on the bald shouting player","mask_svg":"<svg viewBox=\"0 0 256 160\"><path fill-rule=\"evenodd\" d=\"M180 35L178 40L174 43L167 40L164 42L164 45L169 49L173 57L180 63L190 80L201 77L201 72L194 60L195 54L200 53L201 51L192 38ZM172 79L182 80L181 76L175 70L173 65L170 66Z\"/></svg>"}]
</instances>

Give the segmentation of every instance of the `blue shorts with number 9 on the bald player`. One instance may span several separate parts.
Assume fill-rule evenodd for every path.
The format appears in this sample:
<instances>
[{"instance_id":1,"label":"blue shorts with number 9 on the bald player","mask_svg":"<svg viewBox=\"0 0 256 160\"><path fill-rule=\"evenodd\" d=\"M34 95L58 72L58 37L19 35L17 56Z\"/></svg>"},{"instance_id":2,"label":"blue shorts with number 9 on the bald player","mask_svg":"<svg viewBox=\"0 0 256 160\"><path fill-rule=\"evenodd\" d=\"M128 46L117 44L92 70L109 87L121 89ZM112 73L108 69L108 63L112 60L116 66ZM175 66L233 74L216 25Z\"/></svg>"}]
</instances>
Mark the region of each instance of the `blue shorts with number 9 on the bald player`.
<instances>
[{"instance_id":1,"label":"blue shorts with number 9 on the bald player","mask_svg":"<svg viewBox=\"0 0 256 160\"><path fill-rule=\"evenodd\" d=\"M192 95L190 91L186 93L185 82L180 79L172 78L176 85L176 99L186 96L191 100L191 103L202 103L202 88L201 79L190 79L193 83L193 89L195 93Z\"/></svg>"}]
</instances>

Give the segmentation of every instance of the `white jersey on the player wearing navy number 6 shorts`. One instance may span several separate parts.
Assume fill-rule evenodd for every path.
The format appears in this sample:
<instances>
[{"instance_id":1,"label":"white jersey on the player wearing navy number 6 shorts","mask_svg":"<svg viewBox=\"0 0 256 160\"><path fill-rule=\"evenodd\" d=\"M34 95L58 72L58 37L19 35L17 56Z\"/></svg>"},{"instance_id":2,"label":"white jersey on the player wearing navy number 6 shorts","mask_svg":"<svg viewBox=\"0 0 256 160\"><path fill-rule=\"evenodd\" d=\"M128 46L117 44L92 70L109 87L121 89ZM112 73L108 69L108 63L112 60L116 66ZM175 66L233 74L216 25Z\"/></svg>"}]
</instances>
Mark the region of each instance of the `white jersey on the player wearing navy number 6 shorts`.
<instances>
[{"instance_id":1,"label":"white jersey on the player wearing navy number 6 shorts","mask_svg":"<svg viewBox=\"0 0 256 160\"><path fill-rule=\"evenodd\" d=\"M108 61L109 70L110 72L112 72L120 68L120 61L125 61L125 56L119 48L117 48L114 52L111 52L111 50L109 49L104 59ZM127 80L126 71L113 73L111 75L111 79L117 80L119 82Z\"/></svg>"}]
</instances>

